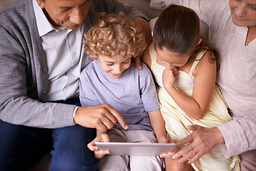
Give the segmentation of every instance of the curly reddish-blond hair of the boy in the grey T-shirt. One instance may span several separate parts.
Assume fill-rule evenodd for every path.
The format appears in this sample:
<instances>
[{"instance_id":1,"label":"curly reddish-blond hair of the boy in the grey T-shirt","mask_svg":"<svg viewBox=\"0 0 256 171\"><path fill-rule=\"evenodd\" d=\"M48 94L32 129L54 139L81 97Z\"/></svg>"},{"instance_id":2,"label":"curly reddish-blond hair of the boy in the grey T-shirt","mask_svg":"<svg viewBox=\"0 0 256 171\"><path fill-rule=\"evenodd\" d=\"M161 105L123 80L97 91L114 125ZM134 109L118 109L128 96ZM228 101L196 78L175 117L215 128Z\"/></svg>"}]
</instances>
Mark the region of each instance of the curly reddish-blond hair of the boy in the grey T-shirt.
<instances>
[{"instance_id":1,"label":"curly reddish-blond hair of the boy in the grey T-shirt","mask_svg":"<svg viewBox=\"0 0 256 171\"><path fill-rule=\"evenodd\" d=\"M123 14L98 13L96 24L84 33L84 49L92 59L98 55L138 56L147 43L140 26Z\"/></svg>"}]
</instances>

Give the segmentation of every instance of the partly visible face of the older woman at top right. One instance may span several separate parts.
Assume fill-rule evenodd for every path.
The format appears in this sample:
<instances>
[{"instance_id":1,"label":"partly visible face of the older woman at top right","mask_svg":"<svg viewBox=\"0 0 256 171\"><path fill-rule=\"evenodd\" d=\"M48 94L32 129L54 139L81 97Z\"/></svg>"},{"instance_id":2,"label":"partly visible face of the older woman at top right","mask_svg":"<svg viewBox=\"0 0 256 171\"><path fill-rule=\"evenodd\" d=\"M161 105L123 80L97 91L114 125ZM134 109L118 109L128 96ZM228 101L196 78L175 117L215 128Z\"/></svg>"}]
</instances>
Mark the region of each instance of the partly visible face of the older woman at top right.
<instances>
[{"instance_id":1,"label":"partly visible face of the older woman at top right","mask_svg":"<svg viewBox=\"0 0 256 171\"><path fill-rule=\"evenodd\" d=\"M232 21L237 26L256 26L256 0L230 0Z\"/></svg>"}]
</instances>

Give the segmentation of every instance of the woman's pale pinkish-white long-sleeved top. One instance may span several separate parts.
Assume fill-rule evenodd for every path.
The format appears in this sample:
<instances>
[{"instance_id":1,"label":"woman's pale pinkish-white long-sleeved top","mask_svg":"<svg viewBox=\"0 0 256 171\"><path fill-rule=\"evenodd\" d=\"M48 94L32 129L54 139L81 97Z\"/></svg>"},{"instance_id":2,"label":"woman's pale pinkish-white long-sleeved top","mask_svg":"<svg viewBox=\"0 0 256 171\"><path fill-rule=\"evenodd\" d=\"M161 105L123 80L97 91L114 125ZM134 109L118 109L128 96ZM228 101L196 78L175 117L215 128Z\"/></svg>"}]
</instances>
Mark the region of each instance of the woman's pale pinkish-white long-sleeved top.
<instances>
[{"instance_id":1,"label":"woman's pale pinkish-white long-sleeved top","mask_svg":"<svg viewBox=\"0 0 256 171\"><path fill-rule=\"evenodd\" d=\"M151 0L163 8L180 4L195 10L209 26L210 43L220 53L217 84L232 120L217 125L225 138L225 157L256 149L256 40L245 46L247 27L232 22L229 0Z\"/></svg>"}]
</instances>

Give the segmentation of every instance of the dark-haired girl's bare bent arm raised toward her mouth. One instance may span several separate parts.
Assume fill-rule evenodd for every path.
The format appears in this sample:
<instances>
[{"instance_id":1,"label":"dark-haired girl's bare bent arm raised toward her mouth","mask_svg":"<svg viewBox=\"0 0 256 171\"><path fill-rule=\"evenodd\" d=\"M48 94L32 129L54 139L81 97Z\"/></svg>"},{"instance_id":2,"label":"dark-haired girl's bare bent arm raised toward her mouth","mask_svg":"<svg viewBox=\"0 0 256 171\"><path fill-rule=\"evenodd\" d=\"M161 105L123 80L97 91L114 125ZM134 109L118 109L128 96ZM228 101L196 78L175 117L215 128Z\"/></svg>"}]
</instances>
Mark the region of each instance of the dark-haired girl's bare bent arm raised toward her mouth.
<instances>
[{"instance_id":1,"label":"dark-haired girl's bare bent arm raised toward her mouth","mask_svg":"<svg viewBox=\"0 0 256 171\"><path fill-rule=\"evenodd\" d=\"M185 95L183 92L175 89L173 85L165 83L165 78L163 77L165 90L168 91L180 109L182 109L187 115L196 120L203 118L205 115L213 95L213 90L215 88L216 61L211 63L209 61L209 55L210 53L206 52L205 56L201 58L198 66L195 68L195 80L192 97ZM171 74L170 71L168 74Z\"/></svg>"}]
</instances>

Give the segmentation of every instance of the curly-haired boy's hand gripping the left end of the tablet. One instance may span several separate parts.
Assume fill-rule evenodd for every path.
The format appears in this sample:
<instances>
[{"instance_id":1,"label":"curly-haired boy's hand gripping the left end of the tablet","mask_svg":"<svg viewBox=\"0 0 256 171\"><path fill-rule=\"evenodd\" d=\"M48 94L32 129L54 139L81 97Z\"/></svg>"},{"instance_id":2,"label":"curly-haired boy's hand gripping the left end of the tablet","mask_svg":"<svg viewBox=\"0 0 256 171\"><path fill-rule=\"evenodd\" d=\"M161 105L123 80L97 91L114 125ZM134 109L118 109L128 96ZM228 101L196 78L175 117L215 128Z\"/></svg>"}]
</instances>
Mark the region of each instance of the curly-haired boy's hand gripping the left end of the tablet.
<instances>
[{"instance_id":1,"label":"curly-haired boy's hand gripping the left end of the tablet","mask_svg":"<svg viewBox=\"0 0 256 171\"><path fill-rule=\"evenodd\" d=\"M94 152L94 157L96 159L101 159L104 155L109 154L109 150L99 150L95 145L95 142L109 142L108 134L97 133L97 137L93 141L89 142L87 147L89 150Z\"/></svg>"}]
</instances>

